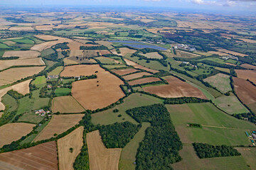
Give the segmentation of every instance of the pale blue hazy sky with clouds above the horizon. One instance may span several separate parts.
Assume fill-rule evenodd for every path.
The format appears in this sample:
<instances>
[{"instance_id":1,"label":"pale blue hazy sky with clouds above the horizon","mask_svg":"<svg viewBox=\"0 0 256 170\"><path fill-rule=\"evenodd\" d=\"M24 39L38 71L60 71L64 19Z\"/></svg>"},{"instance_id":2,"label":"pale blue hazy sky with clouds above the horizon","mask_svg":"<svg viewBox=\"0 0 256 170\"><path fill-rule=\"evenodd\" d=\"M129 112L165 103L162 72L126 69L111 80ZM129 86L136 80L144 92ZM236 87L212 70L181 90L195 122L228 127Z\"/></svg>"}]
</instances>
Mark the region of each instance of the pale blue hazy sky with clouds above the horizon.
<instances>
[{"instance_id":1,"label":"pale blue hazy sky with clouds above the horizon","mask_svg":"<svg viewBox=\"0 0 256 170\"><path fill-rule=\"evenodd\" d=\"M256 0L0 0L1 6L131 6L195 12L256 13Z\"/></svg>"}]
</instances>

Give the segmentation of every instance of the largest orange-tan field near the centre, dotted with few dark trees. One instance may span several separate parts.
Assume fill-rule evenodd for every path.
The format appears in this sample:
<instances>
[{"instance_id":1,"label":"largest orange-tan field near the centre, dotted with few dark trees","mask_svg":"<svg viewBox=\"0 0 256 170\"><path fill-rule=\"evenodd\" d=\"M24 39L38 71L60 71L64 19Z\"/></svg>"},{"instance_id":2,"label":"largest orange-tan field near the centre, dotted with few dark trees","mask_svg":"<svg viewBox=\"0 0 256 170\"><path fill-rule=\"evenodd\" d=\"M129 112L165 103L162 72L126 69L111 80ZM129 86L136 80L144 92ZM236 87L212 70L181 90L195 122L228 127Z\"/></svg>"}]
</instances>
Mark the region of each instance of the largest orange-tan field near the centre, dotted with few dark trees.
<instances>
[{"instance_id":1,"label":"largest orange-tan field near the centre, dotted with few dark trees","mask_svg":"<svg viewBox=\"0 0 256 170\"><path fill-rule=\"evenodd\" d=\"M85 73L85 76L97 75L97 79L87 79L73 83L72 96L85 109L104 108L124 96L122 89L119 87L120 84L124 84L122 80L97 64L65 67L61 76L76 77L83 73Z\"/></svg>"}]
</instances>

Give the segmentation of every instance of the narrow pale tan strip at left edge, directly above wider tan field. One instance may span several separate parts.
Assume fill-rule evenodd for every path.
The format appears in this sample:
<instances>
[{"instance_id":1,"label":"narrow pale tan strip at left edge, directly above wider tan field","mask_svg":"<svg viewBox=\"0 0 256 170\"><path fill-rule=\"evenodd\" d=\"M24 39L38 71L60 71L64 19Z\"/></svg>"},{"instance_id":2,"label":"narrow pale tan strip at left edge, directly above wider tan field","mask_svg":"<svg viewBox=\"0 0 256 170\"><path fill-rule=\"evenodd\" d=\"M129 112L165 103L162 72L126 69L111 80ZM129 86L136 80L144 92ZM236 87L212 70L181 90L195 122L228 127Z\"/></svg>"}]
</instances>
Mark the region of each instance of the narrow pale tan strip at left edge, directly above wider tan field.
<instances>
[{"instance_id":1,"label":"narrow pale tan strip at left edge, directly above wider tan field","mask_svg":"<svg viewBox=\"0 0 256 170\"><path fill-rule=\"evenodd\" d=\"M28 66L28 65L44 65L42 58L31 58L21 60L0 60L0 70L8 69L14 66Z\"/></svg>"}]
</instances>

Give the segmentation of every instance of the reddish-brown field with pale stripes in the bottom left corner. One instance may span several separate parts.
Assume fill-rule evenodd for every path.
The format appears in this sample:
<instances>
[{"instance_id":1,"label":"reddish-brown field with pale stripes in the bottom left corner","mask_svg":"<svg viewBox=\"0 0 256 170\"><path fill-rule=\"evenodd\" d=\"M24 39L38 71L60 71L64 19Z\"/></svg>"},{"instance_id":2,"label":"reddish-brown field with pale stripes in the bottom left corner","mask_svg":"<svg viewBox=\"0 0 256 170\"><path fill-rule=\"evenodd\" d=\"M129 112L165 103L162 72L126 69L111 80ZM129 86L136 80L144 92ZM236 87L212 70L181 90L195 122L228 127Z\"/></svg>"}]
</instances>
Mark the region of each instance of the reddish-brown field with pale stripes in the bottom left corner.
<instances>
[{"instance_id":1,"label":"reddish-brown field with pale stripes in the bottom left corner","mask_svg":"<svg viewBox=\"0 0 256 170\"><path fill-rule=\"evenodd\" d=\"M58 170L57 157L56 143L52 141L27 149L2 153L0 154L0 166L4 164L6 169L14 166L16 170Z\"/></svg>"}]
</instances>

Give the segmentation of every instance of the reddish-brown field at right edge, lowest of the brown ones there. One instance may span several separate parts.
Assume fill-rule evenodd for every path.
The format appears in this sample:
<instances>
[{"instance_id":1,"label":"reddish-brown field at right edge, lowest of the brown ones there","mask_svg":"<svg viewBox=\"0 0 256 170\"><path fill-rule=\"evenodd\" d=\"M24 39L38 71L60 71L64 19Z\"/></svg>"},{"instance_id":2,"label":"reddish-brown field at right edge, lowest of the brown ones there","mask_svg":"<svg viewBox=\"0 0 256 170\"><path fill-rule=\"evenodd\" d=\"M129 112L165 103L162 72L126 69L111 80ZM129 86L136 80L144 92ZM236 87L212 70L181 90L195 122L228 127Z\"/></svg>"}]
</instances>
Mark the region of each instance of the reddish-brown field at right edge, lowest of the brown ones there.
<instances>
[{"instance_id":1,"label":"reddish-brown field at right edge, lowest of the brown ones there","mask_svg":"<svg viewBox=\"0 0 256 170\"><path fill-rule=\"evenodd\" d=\"M233 77L233 80L235 84L235 93L242 103L245 103L246 105L256 103L256 87L244 79Z\"/></svg>"}]
</instances>

